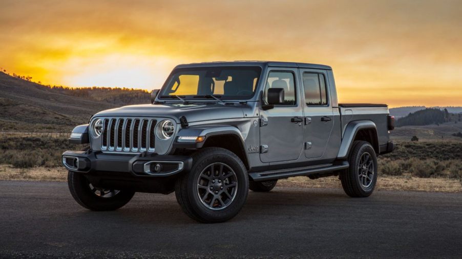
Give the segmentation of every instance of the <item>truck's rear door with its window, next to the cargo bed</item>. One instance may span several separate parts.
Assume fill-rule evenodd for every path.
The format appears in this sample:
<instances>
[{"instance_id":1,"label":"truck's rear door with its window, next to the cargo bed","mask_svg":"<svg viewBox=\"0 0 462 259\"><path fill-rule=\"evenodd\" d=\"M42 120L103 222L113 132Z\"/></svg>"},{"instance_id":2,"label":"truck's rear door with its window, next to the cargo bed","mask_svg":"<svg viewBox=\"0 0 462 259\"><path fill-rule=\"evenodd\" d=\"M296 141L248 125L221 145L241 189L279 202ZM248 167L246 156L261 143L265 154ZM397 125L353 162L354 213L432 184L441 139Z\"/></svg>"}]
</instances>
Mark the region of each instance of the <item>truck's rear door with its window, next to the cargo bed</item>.
<instances>
[{"instance_id":1,"label":"truck's rear door with its window, next to the cargo bed","mask_svg":"<svg viewBox=\"0 0 462 259\"><path fill-rule=\"evenodd\" d=\"M305 156L321 158L334 124L327 73L320 69L300 69L300 76L304 91Z\"/></svg>"}]
</instances>

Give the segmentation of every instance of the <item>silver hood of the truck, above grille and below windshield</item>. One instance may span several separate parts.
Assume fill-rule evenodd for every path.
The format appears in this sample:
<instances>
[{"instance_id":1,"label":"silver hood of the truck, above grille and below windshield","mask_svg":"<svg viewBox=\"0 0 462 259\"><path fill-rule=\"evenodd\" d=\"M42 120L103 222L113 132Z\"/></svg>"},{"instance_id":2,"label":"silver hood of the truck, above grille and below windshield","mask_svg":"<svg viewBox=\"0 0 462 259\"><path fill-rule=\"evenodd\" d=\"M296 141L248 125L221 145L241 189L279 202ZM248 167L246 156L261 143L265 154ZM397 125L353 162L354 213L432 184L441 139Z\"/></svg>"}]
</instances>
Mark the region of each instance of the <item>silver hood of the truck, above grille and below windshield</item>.
<instances>
[{"instance_id":1,"label":"silver hood of the truck, above grille and below windshield","mask_svg":"<svg viewBox=\"0 0 462 259\"><path fill-rule=\"evenodd\" d=\"M210 121L220 119L237 119L244 117L246 104L222 105L210 104L143 104L100 111L95 116L152 116L171 117L179 123L179 117L185 116L188 122Z\"/></svg>"}]
</instances>

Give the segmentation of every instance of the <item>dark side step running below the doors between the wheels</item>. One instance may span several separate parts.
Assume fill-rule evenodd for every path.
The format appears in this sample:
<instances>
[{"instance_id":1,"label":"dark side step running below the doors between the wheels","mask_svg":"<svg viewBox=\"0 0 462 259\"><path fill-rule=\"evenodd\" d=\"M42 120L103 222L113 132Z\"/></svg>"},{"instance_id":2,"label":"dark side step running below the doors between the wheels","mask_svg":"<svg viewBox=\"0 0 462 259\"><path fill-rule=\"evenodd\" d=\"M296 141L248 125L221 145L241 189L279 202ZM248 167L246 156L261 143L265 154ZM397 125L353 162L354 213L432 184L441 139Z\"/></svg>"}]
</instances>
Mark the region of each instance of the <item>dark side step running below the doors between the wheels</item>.
<instances>
[{"instance_id":1,"label":"dark side step running below the doors between the wheels","mask_svg":"<svg viewBox=\"0 0 462 259\"><path fill-rule=\"evenodd\" d=\"M340 164L321 164L319 166L304 167L304 168L291 168L284 170L272 170L265 172L249 173L249 177L254 181L267 181L276 179L285 179L294 176L308 176L312 174L328 173L332 171L344 170L349 167L347 161Z\"/></svg>"}]
</instances>

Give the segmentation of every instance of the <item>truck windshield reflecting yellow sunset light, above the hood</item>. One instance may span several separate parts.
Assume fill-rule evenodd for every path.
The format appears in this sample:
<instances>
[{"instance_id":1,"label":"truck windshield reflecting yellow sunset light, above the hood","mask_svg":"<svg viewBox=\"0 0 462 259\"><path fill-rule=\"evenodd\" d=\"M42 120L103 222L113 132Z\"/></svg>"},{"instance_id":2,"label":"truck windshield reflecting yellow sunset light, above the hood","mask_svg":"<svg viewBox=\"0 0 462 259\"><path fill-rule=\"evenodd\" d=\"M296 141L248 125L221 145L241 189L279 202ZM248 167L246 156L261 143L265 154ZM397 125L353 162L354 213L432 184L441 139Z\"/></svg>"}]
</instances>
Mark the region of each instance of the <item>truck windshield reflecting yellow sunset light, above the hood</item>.
<instances>
[{"instance_id":1,"label":"truck windshield reflecting yellow sunset light, above the hood","mask_svg":"<svg viewBox=\"0 0 462 259\"><path fill-rule=\"evenodd\" d=\"M179 68L162 88L160 98L192 100L215 96L246 100L254 96L261 68L258 66Z\"/></svg>"}]
</instances>

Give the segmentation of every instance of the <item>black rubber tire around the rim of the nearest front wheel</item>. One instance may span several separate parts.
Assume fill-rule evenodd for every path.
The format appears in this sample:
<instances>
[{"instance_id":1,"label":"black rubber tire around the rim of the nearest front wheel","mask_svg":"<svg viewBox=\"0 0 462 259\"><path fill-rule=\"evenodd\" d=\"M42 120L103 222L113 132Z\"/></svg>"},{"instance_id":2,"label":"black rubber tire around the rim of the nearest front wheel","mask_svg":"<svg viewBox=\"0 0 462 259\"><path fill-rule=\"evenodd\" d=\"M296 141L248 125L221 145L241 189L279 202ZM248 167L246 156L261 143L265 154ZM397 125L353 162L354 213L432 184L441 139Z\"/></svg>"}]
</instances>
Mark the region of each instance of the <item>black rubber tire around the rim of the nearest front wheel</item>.
<instances>
[{"instance_id":1,"label":"black rubber tire around the rim of the nearest front wheel","mask_svg":"<svg viewBox=\"0 0 462 259\"><path fill-rule=\"evenodd\" d=\"M198 193L197 181L210 164L224 163L231 168L237 179L236 196L229 205L220 210L206 207ZM193 155L191 172L182 175L175 184L175 195L184 213L202 223L224 222L235 217L244 206L248 195L247 170L239 157L223 148L204 148Z\"/></svg>"}]
</instances>

